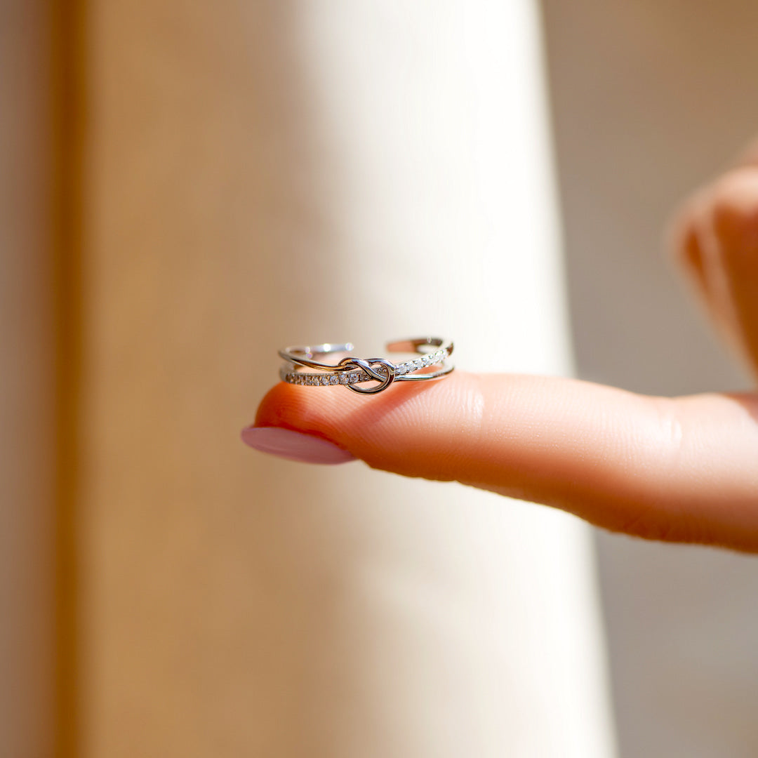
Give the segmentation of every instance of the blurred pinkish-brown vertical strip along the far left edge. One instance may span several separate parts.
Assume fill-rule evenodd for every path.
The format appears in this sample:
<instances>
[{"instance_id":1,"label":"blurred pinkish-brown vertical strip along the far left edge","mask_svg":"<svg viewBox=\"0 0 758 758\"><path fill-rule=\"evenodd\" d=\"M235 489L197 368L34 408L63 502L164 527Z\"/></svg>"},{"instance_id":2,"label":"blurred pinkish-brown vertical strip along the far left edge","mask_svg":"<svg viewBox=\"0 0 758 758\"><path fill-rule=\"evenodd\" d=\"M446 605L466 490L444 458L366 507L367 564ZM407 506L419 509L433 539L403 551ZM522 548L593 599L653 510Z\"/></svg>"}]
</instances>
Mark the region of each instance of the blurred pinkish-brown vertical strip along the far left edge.
<instances>
[{"instance_id":1,"label":"blurred pinkish-brown vertical strip along the far left edge","mask_svg":"<svg viewBox=\"0 0 758 758\"><path fill-rule=\"evenodd\" d=\"M0 2L0 754L54 720L55 343L49 15Z\"/></svg>"}]
</instances>

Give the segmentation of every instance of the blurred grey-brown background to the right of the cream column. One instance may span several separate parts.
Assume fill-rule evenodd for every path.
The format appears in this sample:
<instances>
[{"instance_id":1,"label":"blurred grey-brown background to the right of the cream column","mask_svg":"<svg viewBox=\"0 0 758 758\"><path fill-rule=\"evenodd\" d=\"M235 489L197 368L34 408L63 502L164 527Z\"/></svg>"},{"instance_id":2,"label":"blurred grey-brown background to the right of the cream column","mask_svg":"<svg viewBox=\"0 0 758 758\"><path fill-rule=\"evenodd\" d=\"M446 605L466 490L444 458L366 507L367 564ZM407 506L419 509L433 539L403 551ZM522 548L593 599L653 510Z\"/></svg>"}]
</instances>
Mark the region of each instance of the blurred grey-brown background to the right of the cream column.
<instances>
[{"instance_id":1,"label":"blurred grey-brown background to the right of the cream column","mask_svg":"<svg viewBox=\"0 0 758 758\"><path fill-rule=\"evenodd\" d=\"M663 255L666 221L758 134L758 6L542 0L578 373L747 386ZM597 536L623 758L755 756L758 562Z\"/></svg>"}]
</instances>

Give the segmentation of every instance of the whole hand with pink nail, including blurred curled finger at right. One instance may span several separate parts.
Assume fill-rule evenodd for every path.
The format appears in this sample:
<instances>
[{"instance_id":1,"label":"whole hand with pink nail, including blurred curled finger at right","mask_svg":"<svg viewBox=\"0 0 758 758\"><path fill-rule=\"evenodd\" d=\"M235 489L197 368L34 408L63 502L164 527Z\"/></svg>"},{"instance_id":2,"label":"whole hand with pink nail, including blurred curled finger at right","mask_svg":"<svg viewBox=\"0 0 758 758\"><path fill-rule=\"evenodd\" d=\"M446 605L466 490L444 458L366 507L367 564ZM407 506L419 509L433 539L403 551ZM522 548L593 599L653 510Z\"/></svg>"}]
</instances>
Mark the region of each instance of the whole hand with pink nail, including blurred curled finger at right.
<instances>
[{"instance_id":1,"label":"whole hand with pink nail, including blurred curled finger at right","mask_svg":"<svg viewBox=\"0 0 758 758\"><path fill-rule=\"evenodd\" d=\"M672 240L721 334L758 376L758 163L688 202ZM637 537L758 552L758 393L647 397L463 371L369 397L281 383L243 439L293 459L358 458L456 480Z\"/></svg>"}]
</instances>

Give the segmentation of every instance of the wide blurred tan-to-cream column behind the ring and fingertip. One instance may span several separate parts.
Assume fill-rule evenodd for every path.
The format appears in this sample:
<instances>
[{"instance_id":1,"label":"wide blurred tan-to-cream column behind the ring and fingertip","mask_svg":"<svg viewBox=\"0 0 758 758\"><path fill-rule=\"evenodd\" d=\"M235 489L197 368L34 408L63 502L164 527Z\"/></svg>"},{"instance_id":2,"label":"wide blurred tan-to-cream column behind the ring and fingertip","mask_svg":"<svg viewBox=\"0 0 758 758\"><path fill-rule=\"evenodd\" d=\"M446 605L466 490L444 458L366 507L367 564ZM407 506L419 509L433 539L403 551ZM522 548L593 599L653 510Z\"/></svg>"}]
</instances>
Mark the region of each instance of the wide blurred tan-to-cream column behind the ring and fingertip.
<instances>
[{"instance_id":1,"label":"wide blurred tan-to-cream column behind the ring and fingertip","mask_svg":"<svg viewBox=\"0 0 758 758\"><path fill-rule=\"evenodd\" d=\"M570 368L531 3L87 12L82 754L612 755L584 527L238 440L283 343Z\"/></svg>"}]
</instances>

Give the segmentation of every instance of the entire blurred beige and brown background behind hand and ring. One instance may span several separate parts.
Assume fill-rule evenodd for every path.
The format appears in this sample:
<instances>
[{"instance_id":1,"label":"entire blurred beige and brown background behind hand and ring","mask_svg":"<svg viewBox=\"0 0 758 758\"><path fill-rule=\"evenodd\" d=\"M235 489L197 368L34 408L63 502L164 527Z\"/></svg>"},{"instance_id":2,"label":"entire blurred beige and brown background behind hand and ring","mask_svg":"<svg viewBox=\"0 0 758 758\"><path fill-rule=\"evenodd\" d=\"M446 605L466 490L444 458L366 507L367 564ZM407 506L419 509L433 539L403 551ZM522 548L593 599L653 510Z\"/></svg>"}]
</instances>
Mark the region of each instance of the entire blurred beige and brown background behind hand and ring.
<instances>
[{"instance_id":1,"label":"entire blurred beige and brown background behind hand and ring","mask_svg":"<svg viewBox=\"0 0 758 758\"><path fill-rule=\"evenodd\" d=\"M252 353L352 339L371 282L411 302L438 264L462 294L407 318L473 346L464 249L540 323L500 368L744 387L662 233L758 132L756 28L749 0L0 0L0 753L758 754L755 559L236 440ZM324 272L363 289L322 318ZM303 512L283 479L420 504Z\"/></svg>"}]
</instances>

